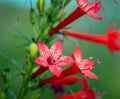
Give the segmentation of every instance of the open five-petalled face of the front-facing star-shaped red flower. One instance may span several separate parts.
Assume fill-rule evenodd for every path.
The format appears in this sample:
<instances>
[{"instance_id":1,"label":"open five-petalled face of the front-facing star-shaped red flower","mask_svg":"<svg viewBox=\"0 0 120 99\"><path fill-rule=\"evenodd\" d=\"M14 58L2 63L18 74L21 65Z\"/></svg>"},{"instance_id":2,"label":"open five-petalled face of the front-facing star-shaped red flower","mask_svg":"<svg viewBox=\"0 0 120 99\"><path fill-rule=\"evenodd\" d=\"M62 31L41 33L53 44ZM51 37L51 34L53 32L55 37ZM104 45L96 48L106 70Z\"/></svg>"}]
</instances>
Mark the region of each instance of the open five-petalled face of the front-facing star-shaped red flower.
<instances>
[{"instance_id":1,"label":"open five-petalled face of the front-facing star-shaped red flower","mask_svg":"<svg viewBox=\"0 0 120 99\"><path fill-rule=\"evenodd\" d=\"M62 73L61 66L66 66L73 62L71 57L62 55L62 43L60 41L54 43L50 49L45 44L38 42L38 49L41 56L35 59L35 63L48 67L56 76L60 76Z\"/></svg>"}]
</instances>

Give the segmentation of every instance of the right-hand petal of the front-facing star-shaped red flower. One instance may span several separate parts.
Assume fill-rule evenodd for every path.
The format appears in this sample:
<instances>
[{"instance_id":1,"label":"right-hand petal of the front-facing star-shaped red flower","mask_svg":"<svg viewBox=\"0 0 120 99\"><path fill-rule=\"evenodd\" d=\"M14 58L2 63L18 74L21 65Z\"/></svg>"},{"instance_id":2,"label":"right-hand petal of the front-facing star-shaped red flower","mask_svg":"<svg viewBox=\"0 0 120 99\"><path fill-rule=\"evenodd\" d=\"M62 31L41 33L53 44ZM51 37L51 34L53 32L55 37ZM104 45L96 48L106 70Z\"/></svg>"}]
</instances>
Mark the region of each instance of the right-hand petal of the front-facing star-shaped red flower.
<instances>
[{"instance_id":1,"label":"right-hand petal of the front-facing star-shaped red flower","mask_svg":"<svg viewBox=\"0 0 120 99\"><path fill-rule=\"evenodd\" d=\"M62 55L58 60L58 66L67 66L72 62L74 62L72 57Z\"/></svg>"}]
</instances>

